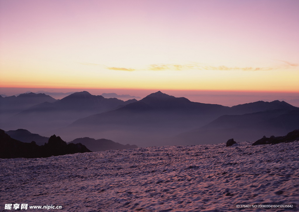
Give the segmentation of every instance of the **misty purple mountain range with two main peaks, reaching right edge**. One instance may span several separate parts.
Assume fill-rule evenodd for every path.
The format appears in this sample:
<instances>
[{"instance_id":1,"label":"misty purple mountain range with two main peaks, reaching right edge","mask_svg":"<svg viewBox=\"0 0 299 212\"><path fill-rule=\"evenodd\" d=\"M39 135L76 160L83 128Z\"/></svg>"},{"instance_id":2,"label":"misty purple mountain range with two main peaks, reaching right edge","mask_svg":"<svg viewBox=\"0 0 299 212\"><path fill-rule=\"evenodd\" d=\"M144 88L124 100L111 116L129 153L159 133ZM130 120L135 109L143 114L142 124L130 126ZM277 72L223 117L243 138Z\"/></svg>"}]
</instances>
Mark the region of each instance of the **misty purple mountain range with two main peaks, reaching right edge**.
<instances>
[{"instance_id":1,"label":"misty purple mountain range with two main peaks, reaching right edge","mask_svg":"<svg viewBox=\"0 0 299 212\"><path fill-rule=\"evenodd\" d=\"M278 100L228 107L192 102L161 91L139 101L107 99L82 91L31 106L2 122L2 128L58 134L67 141L93 137L142 147L192 145L233 137L237 141L256 140L262 133L290 132L299 128L298 109Z\"/></svg>"}]
</instances>

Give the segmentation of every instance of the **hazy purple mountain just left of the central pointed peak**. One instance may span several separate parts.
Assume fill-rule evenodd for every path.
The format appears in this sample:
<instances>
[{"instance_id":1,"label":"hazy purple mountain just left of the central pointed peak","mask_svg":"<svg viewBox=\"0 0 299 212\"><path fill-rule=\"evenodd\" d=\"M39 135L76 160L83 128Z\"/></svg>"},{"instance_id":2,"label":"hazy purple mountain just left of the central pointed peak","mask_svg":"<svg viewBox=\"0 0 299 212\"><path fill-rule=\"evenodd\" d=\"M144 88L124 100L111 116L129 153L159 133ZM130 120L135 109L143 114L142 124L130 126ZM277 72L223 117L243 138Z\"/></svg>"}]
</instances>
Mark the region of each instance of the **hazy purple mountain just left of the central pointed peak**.
<instances>
[{"instance_id":1,"label":"hazy purple mountain just left of the central pointed peak","mask_svg":"<svg viewBox=\"0 0 299 212\"><path fill-rule=\"evenodd\" d=\"M30 131L48 131L66 126L89 115L124 106L137 100L122 101L91 95L87 91L73 93L53 103L34 105L6 121L5 128L26 128Z\"/></svg>"}]
</instances>

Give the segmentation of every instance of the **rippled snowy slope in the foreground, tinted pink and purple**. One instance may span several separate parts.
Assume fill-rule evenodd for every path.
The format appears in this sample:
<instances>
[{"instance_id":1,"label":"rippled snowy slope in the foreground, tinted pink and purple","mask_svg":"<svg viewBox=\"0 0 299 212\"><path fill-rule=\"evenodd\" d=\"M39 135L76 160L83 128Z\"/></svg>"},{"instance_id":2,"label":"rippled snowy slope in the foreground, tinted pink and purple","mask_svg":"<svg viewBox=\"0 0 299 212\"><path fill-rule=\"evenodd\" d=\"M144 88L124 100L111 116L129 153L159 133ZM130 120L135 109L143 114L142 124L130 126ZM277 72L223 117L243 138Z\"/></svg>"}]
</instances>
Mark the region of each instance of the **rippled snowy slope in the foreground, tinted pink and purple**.
<instances>
[{"instance_id":1,"label":"rippled snowy slope in the foreground, tinted pink and purple","mask_svg":"<svg viewBox=\"0 0 299 212\"><path fill-rule=\"evenodd\" d=\"M62 206L48 211L239 211L236 205L296 204L242 211L298 211L298 153L298 141L244 142L0 159L0 211L15 211L4 210L8 203Z\"/></svg>"}]
</instances>

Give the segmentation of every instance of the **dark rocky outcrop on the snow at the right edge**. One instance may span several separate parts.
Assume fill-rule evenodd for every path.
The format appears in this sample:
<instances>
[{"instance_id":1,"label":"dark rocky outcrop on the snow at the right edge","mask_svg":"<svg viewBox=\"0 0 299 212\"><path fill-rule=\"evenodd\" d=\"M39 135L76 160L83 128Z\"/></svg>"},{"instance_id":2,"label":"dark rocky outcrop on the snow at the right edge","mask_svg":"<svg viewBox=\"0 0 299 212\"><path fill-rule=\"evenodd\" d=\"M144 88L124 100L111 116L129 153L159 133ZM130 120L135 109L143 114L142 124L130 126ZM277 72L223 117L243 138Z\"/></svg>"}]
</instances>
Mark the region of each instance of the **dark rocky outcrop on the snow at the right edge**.
<instances>
[{"instance_id":1,"label":"dark rocky outcrop on the snow at the right edge","mask_svg":"<svg viewBox=\"0 0 299 212\"><path fill-rule=\"evenodd\" d=\"M292 132L289 132L287 135L285 136L271 136L270 138L267 138L266 136L264 136L263 138L255 141L252 146L255 145L260 145L260 144L279 144L279 143L283 143L283 142L292 142L292 141L298 141L299 140L299 129L295 129Z\"/></svg>"}]
</instances>

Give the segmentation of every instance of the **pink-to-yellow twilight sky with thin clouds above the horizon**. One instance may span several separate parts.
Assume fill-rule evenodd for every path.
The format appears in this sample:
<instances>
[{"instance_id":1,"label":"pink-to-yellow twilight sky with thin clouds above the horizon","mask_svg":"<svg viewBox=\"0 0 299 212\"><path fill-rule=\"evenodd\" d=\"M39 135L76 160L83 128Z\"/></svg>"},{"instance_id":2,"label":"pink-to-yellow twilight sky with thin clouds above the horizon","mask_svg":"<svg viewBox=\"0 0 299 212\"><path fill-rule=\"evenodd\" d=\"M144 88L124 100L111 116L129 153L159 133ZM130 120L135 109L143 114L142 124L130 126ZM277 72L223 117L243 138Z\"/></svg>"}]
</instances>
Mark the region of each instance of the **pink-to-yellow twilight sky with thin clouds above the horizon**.
<instances>
[{"instance_id":1,"label":"pink-to-yellow twilight sky with thin clouds above the horizon","mask_svg":"<svg viewBox=\"0 0 299 212\"><path fill-rule=\"evenodd\" d=\"M0 87L299 93L298 0L0 0Z\"/></svg>"}]
</instances>

